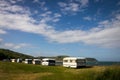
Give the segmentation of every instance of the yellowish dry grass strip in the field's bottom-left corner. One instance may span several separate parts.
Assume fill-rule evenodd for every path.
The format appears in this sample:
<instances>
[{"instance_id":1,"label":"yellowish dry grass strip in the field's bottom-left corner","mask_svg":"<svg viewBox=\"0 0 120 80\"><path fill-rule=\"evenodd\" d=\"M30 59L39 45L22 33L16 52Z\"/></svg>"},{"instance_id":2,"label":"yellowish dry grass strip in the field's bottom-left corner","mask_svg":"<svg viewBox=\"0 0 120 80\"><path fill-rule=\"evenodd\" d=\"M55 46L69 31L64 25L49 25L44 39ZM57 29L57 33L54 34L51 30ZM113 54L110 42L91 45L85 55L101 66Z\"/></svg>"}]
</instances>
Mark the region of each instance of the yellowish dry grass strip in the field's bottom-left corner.
<instances>
[{"instance_id":1,"label":"yellowish dry grass strip in the field's bottom-left corner","mask_svg":"<svg viewBox=\"0 0 120 80\"><path fill-rule=\"evenodd\" d=\"M5 76L6 75L6 76ZM20 73L20 74L8 74L8 73L0 73L1 80L37 80L43 76L49 76L52 73Z\"/></svg>"}]
</instances>

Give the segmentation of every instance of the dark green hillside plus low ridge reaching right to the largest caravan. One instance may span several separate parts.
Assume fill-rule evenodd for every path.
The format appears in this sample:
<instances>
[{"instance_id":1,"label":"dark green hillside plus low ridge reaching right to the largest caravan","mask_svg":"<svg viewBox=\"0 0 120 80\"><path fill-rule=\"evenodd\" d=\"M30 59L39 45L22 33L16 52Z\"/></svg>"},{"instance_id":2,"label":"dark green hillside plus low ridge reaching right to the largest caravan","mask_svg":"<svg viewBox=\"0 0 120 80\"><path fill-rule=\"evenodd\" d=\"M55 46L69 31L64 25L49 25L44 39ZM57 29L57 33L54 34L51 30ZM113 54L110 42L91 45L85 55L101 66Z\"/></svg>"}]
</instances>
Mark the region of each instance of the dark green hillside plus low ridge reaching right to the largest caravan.
<instances>
[{"instance_id":1,"label":"dark green hillside plus low ridge reaching right to the largest caravan","mask_svg":"<svg viewBox=\"0 0 120 80\"><path fill-rule=\"evenodd\" d=\"M25 55L22 53L18 53L9 49L0 49L0 60L3 59L17 59L17 58L39 58L39 59L43 59L43 58L54 58L58 61L62 61L64 57L68 57L66 55L61 55L61 56L55 56L55 57L44 57L44 56L39 56L39 57L33 57L30 55Z\"/></svg>"}]
</instances>

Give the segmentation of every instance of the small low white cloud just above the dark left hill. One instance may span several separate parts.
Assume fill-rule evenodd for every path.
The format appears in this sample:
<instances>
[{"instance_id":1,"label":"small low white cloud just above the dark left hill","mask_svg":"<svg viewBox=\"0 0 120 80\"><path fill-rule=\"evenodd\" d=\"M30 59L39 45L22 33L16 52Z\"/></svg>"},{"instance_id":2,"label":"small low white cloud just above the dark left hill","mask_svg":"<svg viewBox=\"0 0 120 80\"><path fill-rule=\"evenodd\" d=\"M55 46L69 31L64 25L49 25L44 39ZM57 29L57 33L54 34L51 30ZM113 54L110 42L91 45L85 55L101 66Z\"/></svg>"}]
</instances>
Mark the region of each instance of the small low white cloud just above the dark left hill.
<instances>
[{"instance_id":1,"label":"small low white cloud just above the dark left hill","mask_svg":"<svg viewBox=\"0 0 120 80\"><path fill-rule=\"evenodd\" d=\"M14 44L14 43L4 43L2 47L8 48L8 49L20 49L24 47L30 46L29 44L26 43L20 43L20 44Z\"/></svg>"}]
</instances>

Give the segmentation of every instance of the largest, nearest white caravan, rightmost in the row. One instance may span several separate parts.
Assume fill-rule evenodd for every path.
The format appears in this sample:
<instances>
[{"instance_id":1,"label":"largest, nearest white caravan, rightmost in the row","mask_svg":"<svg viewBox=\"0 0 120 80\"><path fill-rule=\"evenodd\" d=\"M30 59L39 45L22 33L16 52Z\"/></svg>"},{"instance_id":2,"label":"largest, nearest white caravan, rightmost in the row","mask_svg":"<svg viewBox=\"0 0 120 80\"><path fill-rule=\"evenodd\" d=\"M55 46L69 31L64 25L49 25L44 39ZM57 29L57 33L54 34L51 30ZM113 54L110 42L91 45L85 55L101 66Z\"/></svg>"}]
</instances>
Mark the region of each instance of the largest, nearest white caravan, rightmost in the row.
<instances>
[{"instance_id":1,"label":"largest, nearest white caravan, rightmost in the row","mask_svg":"<svg viewBox=\"0 0 120 80\"><path fill-rule=\"evenodd\" d=\"M86 58L85 57L66 57L63 58L63 66L70 68L79 68L82 66L86 66Z\"/></svg>"}]
</instances>

